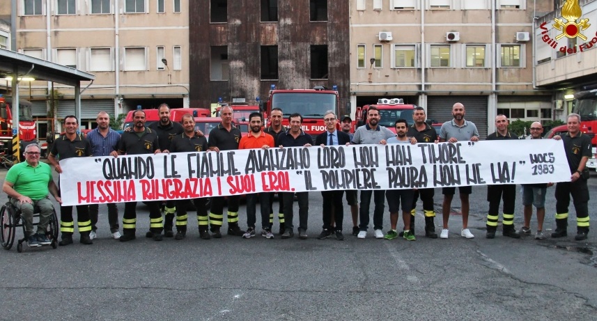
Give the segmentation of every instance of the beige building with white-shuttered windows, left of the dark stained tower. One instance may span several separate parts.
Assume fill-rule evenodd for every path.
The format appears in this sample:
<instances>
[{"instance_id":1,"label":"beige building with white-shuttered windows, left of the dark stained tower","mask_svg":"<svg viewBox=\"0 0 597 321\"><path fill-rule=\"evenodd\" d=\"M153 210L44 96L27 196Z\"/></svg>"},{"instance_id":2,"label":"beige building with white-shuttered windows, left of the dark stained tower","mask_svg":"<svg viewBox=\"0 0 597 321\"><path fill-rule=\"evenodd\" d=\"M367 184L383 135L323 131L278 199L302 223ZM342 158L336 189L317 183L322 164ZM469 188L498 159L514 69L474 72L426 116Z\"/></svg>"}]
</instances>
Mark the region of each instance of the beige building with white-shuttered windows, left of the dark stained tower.
<instances>
[{"instance_id":1,"label":"beige building with white-shuttered windows, left of the dark stained tower","mask_svg":"<svg viewBox=\"0 0 597 321\"><path fill-rule=\"evenodd\" d=\"M5 4L10 1L3 11ZM17 0L16 50L95 75L81 95L81 127L92 128L100 110L118 115L162 102L188 107L188 17L188 0ZM40 136L48 129L42 118L52 88L56 117L72 113L72 88L45 81L21 86Z\"/></svg>"}]
</instances>

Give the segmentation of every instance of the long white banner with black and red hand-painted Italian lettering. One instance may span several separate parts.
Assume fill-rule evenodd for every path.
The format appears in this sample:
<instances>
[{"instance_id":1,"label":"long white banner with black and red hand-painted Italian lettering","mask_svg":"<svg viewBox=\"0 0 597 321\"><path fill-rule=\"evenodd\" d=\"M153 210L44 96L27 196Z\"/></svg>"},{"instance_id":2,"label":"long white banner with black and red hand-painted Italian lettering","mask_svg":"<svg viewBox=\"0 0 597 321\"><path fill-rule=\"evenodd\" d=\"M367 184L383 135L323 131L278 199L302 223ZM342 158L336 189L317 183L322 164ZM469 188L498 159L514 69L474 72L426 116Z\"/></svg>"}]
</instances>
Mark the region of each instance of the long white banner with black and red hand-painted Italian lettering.
<instances>
[{"instance_id":1,"label":"long white banner with black and red hand-painted Italian lettering","mask_svg":"<svg viewBox=\"0 0 597 321\"><path fill-rule=\"evenodd\" d=\"M570 180L553 139L182 152L60 161L63 205Z\"/></svg>"}]
</instances>

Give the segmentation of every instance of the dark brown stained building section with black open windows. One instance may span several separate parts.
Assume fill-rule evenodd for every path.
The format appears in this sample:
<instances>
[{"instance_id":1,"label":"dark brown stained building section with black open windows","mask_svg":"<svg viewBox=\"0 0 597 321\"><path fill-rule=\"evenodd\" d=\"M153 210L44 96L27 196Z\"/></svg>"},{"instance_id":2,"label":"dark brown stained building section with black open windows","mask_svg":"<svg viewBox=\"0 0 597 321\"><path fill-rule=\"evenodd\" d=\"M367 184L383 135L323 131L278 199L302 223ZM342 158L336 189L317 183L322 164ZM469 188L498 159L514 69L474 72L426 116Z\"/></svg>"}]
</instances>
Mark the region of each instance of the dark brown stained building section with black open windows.
<instances>
[{"instance_id":1,"label":"dark brown stained building section with black open windows","mask_svg":"<svg viewBox=\"0 0 597 321\"><path fill-rule=\"evenodd\" d=\"M348 98L349 1L190 3L192 107L256 102L280 89L338 86Z\"/></svg>"}]
</instances>

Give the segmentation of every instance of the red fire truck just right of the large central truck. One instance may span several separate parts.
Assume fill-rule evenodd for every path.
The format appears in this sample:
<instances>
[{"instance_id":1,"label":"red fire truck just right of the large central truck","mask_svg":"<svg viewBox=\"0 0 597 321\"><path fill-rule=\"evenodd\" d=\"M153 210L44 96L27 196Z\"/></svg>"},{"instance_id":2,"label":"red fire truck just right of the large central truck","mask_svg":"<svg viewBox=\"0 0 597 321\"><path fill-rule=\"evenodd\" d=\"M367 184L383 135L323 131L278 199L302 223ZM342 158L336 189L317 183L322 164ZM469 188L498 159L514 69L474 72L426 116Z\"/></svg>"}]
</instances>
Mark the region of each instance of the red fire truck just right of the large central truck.
<instances>
[{"instance_id":1,"label":"red fire truck just right of the large central truck","mask_svg":"<svg viewBox=\"0 0 597 321\"><path fill-rule=\"evenodd\" d=\"M401 98L380 98L377 104L366 104L363 107L357 107L355 112L355 120L357 120L357 127L367 123L367 111L369 107L375 106L380 111L379 125L387 127L392 132L396 132L394 122L396 119L403 118L408 125L414 124L412 113L414 111L414 104L405 104Z\"/></svg>"}]
</instances>

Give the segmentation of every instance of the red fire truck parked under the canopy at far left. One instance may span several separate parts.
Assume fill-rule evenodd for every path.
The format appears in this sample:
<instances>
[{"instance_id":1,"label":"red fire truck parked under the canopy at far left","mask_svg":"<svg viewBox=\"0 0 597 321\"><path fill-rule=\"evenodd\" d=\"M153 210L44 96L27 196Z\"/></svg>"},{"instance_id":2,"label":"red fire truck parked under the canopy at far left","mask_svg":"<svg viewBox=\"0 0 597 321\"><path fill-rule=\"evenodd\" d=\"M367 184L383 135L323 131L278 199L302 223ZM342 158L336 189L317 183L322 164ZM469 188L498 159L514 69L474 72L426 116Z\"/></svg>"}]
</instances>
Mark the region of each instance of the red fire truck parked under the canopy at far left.
<instances>
[{"instance_id":1,"label":"red fire truck parked under the canopy at far left","mask_svg":"<svg viewBox=\"0 0 597 321\"><path fill-rule=\"evenodd\" d=\"M11 146L13 141L12 99L0 95L0 142ZM19 139L20 148L30 143L37 143L36 121L31 115L31 102L19 101Z\"/></svg>"}]
</instances>

